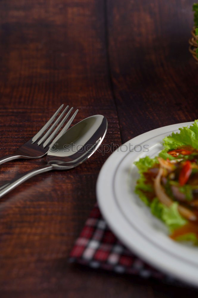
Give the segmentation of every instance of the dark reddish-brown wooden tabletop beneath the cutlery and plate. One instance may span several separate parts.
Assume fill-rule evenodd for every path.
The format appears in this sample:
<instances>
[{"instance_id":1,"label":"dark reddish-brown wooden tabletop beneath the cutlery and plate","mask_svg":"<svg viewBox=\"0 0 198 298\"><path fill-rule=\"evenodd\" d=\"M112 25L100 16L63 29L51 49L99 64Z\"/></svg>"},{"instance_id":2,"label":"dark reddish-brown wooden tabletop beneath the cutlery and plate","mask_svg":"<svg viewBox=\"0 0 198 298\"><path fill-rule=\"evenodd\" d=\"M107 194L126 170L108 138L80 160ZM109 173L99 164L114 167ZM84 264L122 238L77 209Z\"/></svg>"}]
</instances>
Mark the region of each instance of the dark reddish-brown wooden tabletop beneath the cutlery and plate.
<instances>
[{"instance_id":1,"label":"dark reddish-brown wooden tabletop beneath the cutlery and plate","mask_svg":"<svg viewBox=\"0 0 198 298\"><path fill-rule=\"evenodd\" d=\"M193 2L1 0L0 155L61 103L79 108L75 123L105 115L107 144L198 118ZM1 199L1 297L197 297L193 288L68 264L109 154L36 176ZM41 164L8 162L1 183Z\"/></svg>"}]
</instances>

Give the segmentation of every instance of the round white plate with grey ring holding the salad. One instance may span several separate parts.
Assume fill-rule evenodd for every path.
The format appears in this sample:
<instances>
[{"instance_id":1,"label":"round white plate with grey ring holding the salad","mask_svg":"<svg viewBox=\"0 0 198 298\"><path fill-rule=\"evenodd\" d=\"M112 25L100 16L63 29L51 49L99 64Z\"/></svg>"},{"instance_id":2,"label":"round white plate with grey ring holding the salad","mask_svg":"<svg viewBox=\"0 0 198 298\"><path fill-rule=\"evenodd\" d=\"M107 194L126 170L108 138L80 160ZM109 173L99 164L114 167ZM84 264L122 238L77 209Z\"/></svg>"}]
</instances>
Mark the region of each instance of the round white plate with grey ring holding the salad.
<instances>
[{"instance_id":1,"label":"round white plate with grey ring holding the salad","mask_svg":"<svg viewBox=\"0 0 198 298\"><path fill-rule=\"evenodd\" d=\"M171 240L166 226L153 217L134 193L138 171L133 162L162 150L162 139L178 128L192 124L169 125L141 134L122 145L103 165L96 186L99 208L112 231L142 259L185 282L198 285L198 247ZM148 145L149 152L130 152L129 146ZM143 148L143 147L142 147ZM124 152L125 151L125 152Z\"/></svg>"}]
</instances>

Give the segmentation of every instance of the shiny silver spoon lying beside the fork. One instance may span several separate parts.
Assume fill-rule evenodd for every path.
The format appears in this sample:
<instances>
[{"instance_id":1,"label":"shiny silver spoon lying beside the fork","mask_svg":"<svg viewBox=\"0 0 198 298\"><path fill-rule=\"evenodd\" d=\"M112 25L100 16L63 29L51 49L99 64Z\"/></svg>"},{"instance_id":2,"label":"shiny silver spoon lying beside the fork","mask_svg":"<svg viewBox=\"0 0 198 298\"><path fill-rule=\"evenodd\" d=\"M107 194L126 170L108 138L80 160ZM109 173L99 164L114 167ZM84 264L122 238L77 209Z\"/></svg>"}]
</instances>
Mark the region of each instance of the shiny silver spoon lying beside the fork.
<instances>
[{"instance_id":1,"label":"shiny silver spoon lying beside the fork","mask_svg":"<svg viewBox=\"0 0 198 298\"><path fill-rule=\"evenodd\" d=\"M0 198L27 179L50 170L68 170L82 164L99 147L107 132L107 119L102 115L88 117L55 140L49 148L47 164L21 174L0 188Z\"/></svg>"}]
</instances>

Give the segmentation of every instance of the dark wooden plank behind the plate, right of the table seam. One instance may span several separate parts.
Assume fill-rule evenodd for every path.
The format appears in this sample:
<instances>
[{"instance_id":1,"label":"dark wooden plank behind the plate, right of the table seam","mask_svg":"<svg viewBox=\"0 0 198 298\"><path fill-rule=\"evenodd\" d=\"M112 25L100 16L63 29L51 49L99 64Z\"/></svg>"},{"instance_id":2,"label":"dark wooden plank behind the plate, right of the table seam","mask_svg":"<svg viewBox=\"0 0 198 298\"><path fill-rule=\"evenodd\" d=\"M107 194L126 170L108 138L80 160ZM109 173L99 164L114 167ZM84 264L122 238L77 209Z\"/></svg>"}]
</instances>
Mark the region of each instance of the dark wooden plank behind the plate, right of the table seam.
<instances>
[{"instance_id":1,"label":"dark wooden plank behind the plate, right of the table seam","mask_svg":"<svg viewBox=\"0 0 198 298\"><path fill-rule=\"evenodd\" d=\"M109 57L122 141L194 121L197 64L188 51L192 1L107 1Z\"/></svg>"}]
</instances>

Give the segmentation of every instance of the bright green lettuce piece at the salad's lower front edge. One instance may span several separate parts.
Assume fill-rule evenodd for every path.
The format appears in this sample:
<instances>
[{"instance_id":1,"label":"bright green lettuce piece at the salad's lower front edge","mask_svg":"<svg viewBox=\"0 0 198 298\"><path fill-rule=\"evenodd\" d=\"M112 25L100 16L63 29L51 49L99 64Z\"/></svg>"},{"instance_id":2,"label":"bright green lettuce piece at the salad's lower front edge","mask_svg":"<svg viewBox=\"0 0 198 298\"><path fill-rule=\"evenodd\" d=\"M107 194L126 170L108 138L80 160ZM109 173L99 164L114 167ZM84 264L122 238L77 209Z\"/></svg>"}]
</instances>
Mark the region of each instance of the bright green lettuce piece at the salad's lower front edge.
<instances>
[{"instance_id":1,"label":"bright green lettuce piece at the salad's lower front edge","mask_svg":"<svg viewBox=\"0 0 198 298\"><path fill-rule=\"evenodd\" d=\"M178 203L173 203L171 207L163 205L158 198L155 198L151 205L151 212L153 215L161 219L169 228L170 232L185 225L187 221L178 212Z\"/></svg>"}]
</instances>

